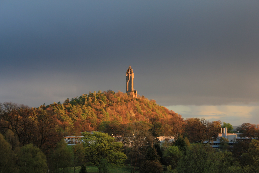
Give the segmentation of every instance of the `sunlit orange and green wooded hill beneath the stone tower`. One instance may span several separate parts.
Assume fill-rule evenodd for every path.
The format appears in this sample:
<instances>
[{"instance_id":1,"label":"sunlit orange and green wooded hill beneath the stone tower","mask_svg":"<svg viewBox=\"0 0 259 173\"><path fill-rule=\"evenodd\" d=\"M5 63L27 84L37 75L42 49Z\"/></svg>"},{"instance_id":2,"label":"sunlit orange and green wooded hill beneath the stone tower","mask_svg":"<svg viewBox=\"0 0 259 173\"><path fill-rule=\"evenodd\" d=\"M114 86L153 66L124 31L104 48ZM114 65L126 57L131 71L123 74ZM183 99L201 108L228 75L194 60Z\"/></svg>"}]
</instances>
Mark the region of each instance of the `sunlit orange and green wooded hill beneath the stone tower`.
<instances>
[{"instance_id":1,"label":"sunlit orange and green wooded hill beneath the stone tower","mask_svg":"<svg viewBox=\"0 0 259 173\"><path fill-rule=\"evenodd\" d=\"M94 130L107 132L109 127L116 133L114 129L122 131L125 125L143 122L153 127L157 135L177 136L183 126L181 115L156 104L155 100L144 96L135 99L120 91L89 92L64 103L41 105L38 109L51 111L70 135Z\"/></svg>"}]
</instances>

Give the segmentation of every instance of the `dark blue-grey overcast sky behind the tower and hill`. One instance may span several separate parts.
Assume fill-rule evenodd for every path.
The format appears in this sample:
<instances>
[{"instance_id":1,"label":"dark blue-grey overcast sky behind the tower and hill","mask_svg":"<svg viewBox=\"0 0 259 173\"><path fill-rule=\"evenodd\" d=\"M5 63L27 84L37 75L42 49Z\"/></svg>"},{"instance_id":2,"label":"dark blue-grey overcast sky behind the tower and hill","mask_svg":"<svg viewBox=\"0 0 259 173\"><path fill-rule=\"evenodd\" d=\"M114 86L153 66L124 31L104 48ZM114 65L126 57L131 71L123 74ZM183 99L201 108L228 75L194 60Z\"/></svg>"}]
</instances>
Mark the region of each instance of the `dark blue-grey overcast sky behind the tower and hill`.
<instances>
[{"instance_id":1,"label":"dark blue-grey overcast sky behind the tower and hill","mask_svg":"<svg viewBox=\"0 0 259 173\"><path fill-rule=\"evenodd\" d=\"M134 89L184 118L259 124L259 1L0 1L0 102Z\"/></svg>"}]
</instances>

